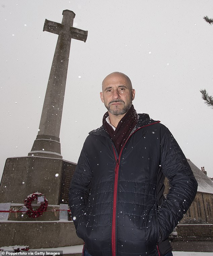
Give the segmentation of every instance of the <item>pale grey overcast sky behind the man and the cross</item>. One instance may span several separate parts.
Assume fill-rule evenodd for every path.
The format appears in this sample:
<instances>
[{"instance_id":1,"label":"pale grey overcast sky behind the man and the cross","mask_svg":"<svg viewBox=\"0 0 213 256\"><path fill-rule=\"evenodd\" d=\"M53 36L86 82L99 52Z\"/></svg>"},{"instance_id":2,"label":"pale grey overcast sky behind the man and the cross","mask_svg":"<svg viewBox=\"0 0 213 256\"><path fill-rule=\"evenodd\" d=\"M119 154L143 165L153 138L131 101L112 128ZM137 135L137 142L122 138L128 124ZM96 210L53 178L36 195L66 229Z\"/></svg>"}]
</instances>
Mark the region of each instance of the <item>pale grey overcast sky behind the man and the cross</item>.
<instances>
[{"instance_id":1,"label":"pale grey overcast sky behind the man and the cross","mask_svg":"<svg viewBox=\"0 0 213 256\"><path fill-rule=\"evenodd\" d=\"M113 71L127 74L138 113L161 120L184 154L213 177L213 110L200 89L213 94L212 1L0 0L0 177L8 157L27 156L38 133L57 35L45 19L76 13L60 131L63 159L77 162L89 131L106 112L99 92Z\"/></svg>"}]
</instances>

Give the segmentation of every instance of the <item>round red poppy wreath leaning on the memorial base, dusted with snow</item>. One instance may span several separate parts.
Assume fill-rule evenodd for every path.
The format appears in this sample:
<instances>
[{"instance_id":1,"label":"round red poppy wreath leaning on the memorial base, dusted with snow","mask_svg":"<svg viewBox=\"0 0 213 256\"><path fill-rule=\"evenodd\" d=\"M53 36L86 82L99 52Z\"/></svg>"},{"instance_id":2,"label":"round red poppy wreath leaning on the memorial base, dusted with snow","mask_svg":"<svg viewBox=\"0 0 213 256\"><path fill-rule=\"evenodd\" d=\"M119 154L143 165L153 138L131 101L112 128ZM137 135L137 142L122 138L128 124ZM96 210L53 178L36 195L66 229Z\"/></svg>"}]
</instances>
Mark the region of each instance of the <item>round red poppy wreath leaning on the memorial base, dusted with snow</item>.
<instances>
[{"instance_id":1,"label":"round red poppy wreath leaning on the memorial base, dusted with snow","mask_svg":"<svg viewBox=\"0 0 213 256\"><path fill-rule=\"evenodd\" d=\"M37 210L33 210L33 207L31 206L32 202L37 200L38 196L41 196L41 195L44 197L44 202L41 203L40 207ZM28 195L24 203L25 203L25 207L29 209L27 211L27 215L30 218L40 217L43 214L43 212L47 210L47 206L48 206L48 200L46 199L45 195L39 192L35 192L33 194Z\"/></svg>"}]
</instances>

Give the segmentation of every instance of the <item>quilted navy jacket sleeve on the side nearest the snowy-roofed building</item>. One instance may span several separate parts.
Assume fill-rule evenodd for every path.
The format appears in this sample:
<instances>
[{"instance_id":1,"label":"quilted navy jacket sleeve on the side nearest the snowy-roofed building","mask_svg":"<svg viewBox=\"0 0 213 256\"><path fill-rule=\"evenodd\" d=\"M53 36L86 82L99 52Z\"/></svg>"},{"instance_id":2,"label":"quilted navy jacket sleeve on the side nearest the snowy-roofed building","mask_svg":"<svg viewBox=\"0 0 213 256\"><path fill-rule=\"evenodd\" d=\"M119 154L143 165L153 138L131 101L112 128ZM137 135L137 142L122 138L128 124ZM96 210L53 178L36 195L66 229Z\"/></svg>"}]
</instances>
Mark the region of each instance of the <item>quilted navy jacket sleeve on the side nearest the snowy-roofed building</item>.
<instances>
[{"instance_id":1,"label":"quilted navy jacket sleeve on the side nearest the snowy-roofed building","mask_svg":"<svg viewBox=\"0 0 213 256\"><path fill-rule=\"evenodd\" d=\"M193 202L198 183L182 150L170 131L161 129L161 170L168 178L170 189L158 207L161 238L165 240Z\"/></svg>"}]
</instances>

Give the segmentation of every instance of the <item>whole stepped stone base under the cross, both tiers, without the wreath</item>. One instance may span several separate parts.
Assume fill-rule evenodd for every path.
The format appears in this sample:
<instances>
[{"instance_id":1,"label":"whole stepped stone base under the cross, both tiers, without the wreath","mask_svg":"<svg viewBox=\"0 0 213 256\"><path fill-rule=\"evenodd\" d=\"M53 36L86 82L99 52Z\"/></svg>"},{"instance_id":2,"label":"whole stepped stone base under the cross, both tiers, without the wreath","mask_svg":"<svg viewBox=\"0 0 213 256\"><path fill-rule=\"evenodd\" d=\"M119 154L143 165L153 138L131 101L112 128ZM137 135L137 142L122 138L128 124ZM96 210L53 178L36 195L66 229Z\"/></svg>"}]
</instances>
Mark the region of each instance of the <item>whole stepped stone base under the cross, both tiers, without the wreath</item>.
<instances>
[{"instance_id":1,"label":"whole stepped stone base under the cross, both tiers, without the wreath","mask_svg":"<svg viewBox=\"0 0 213 256\"><path fill-rule=\"evenodd\" d=\"M60 158L40 156L7 158L0 184L0 208L22 210L28 195L40 192L48 200L42 216L1 213L0 247L26 245L29 248L55 248L82 245L67 211L69 185L76 164ZM31 202L37 210L37 200ZM53 211L65 209L65 211ZM60 216L59 216L60 213Z\"/></svg>"}]
</instances>

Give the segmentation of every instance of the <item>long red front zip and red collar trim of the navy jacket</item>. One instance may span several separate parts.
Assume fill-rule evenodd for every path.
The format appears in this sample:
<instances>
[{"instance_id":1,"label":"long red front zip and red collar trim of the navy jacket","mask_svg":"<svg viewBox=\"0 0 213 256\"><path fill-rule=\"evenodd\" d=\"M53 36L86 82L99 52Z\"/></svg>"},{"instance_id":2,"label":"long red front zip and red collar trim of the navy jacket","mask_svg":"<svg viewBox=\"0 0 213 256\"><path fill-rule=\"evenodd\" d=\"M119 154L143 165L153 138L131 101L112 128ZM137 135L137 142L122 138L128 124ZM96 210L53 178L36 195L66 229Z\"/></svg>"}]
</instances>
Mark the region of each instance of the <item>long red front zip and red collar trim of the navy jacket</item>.
<instances>
[{"instance_id":1,"label":"long red front zip and red collar trim of the navy jacket","mask_svg":"<svg viewBox=\"0 0 213 256\"><path fill-rule=\"evenodd\" d=\"M135 133L137 132L138 130L140 130L141 128L144 128L146 126L150 126L152 124L156 124L156 123L160 123L160 121L157 121L157 122L154 122L154 123L150 123L150 124L147 124L147 125L144 125L142 127L139 127L138 129L136 129L128 138L127 140L125 141L122 149L121 149L121 152L119 154L119 157L117 158L117 155L116 155L116 152L115 152L115 148L113 147L113 152L114 152L114 155L115 155L115 159L116 159L116 166L115 166L115 182L114 182L114 193L113 193L113 220L112 220L112 256L116 256L116 237L115 237L115 234L116 234L116 205L117 205L117 188L118 188L118 170L119 170L119 163L120 163L120 157L121 157L121 154L122 154L122 151L124 149L124 146L126 145L127 141L129 140L129 138Z\"/></svg>"}]
</instances>

